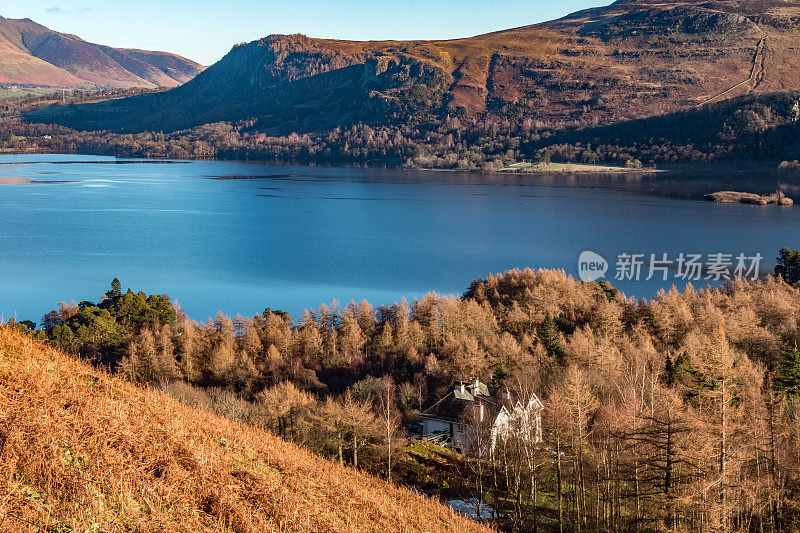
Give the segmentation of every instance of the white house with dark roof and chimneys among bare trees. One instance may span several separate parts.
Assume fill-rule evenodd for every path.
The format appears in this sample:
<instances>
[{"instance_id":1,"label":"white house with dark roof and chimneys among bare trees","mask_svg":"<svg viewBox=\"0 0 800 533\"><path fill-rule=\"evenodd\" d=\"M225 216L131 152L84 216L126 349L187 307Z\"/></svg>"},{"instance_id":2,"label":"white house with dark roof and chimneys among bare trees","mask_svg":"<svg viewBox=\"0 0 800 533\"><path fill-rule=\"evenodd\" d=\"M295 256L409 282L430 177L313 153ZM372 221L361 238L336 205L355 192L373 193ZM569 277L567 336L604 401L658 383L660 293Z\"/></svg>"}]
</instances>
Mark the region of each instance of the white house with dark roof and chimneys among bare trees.
<instances>
[{"instance_id":1,"label":"white house with dark roof and chimneys among bare trees","mask_svg":"<svg viewBox=\"0 0 800 533\"><path fill-rule=\"evenodd\" d=\"M477 379L457 383L420 415L422 436L458 450L469 448L480 435L486 435L492 450L498 440L515 434L541 441L544 406L539 398L533 395L525 405L511 402L508 391L494 397Z\"/></svg>"}]
</instances>

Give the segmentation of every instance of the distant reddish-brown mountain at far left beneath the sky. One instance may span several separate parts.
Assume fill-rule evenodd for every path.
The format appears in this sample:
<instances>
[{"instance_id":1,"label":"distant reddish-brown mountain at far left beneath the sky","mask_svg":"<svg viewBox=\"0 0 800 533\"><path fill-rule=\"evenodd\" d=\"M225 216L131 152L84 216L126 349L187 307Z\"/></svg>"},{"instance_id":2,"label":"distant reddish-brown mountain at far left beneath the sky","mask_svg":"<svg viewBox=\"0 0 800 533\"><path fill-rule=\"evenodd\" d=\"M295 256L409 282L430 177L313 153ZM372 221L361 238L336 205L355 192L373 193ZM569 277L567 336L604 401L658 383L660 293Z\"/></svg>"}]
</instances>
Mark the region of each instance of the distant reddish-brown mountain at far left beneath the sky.
<instances>
[{"instance_id":1,"label":"distant reddish-brown mountain at far left beneath the sky","mask_svg":"<svg viewBox=\"0 0 800 533\"><path fill-rule=\"evenodd\" d=\"M166 52L111 48L30 19L0 17L0 84L42 87L176 87L203 67Z\"/></svg>"}]
</instances>

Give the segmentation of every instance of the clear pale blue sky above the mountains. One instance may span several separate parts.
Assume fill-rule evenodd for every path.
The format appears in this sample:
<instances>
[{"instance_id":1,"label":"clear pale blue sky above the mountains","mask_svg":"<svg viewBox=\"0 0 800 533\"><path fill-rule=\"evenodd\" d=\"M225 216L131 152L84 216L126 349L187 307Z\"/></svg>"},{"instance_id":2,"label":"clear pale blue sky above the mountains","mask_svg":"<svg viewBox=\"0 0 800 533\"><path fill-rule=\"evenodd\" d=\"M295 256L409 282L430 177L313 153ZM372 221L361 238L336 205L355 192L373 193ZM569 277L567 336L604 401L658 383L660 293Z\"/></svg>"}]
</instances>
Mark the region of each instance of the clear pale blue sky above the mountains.
<instances>
[{"instance_id":1,"label":"clear pale blue sky above the mountains","mask_svg":"<svg viewBox=\"0 0 800 533\"><path fill-rule=\"evenodd\" d=\"M233 44L271 33L340 39L447 39L525 26L611 0L3 0L87 41L165 50L209 65ZM2 5L5 4L5 5Z\"/></svg>"}]
</instances>

